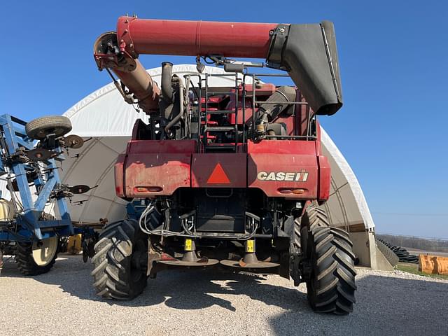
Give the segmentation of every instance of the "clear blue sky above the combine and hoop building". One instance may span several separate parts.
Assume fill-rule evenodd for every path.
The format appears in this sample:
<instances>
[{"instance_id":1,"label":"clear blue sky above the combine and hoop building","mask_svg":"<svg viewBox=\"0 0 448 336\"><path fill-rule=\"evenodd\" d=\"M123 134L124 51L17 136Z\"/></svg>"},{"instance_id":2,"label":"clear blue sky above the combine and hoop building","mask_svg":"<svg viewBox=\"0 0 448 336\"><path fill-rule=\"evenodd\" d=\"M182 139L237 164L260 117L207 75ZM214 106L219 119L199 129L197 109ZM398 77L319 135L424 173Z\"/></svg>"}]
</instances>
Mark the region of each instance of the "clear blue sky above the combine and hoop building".
<instances>
[{"instance_id":1,"label":"clear blue sky above the combine and hoop building","mask_svg":"<svg viewBox=\"0 0 448 336\"><path fill-rule=\"evenodd\" d=\"M446 1L1 1L0 111L64 113L109 83L94 39L139 18L335 22L344 106L321 123L358 176L377 232L448 239ZM220 7L219 4L223 4ZM141 57L146 68L162 60Z\"/></svg>"}]
</instances>

